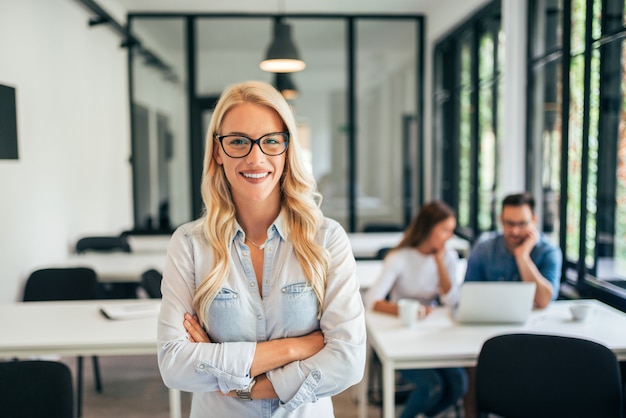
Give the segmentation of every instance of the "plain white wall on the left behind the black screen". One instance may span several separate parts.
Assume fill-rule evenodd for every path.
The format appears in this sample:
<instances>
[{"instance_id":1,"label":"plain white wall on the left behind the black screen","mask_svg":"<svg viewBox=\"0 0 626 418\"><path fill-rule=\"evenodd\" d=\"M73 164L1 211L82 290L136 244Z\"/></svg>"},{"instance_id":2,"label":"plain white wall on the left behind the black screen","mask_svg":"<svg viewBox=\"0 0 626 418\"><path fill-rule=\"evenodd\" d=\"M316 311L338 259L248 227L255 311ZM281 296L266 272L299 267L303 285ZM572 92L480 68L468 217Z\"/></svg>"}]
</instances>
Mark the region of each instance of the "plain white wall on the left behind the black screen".
<instances>
[{"instance_id":1,"label":"plain white wall on the left behind the black screen","mask_svg":"<svg viewBox=\"0 0 626 418\"><path fill-rule=\"evenodd\" d=\"M126 50L68 0L2 0L0 84L19 160L0 160L0 302L83 234L132 226Z\"/></svg>"}]
</instances>

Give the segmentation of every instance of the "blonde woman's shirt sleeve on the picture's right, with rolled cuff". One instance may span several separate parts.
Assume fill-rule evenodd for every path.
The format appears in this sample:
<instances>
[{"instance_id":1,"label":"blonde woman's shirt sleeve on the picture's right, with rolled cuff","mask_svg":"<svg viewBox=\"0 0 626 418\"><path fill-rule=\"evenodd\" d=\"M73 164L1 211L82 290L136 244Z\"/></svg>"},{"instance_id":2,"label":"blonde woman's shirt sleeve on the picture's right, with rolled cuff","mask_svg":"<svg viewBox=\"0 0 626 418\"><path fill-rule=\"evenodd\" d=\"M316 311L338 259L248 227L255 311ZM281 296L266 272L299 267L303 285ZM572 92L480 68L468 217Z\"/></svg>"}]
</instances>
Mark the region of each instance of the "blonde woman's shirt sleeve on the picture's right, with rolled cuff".
<instances>
[{"instance_id":1,"label":"blonde woman's shirt sleeve on the picture's right, with rolled cuff","mask_svg":"<svg viewBox=\"0 0 626 418\"><path fill-rule=\"evenodd\" d=\"M291 411L360 382L365 367L364 308L350 242L334 221L325 235L331 261L320 328L326 345L306 360L267 373L281 405Z\"/></svg>"}]
</instances>

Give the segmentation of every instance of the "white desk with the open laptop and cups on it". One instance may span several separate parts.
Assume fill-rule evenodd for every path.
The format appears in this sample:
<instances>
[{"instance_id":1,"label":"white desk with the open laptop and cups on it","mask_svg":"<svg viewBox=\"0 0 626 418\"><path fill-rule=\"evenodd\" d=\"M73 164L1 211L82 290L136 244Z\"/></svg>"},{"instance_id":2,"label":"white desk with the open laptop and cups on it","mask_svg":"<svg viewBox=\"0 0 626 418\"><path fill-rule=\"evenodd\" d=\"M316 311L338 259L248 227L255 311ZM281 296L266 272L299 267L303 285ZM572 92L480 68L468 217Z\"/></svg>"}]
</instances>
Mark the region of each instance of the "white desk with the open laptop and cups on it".
<instances>
[{"instance_id":1,"label":"white desk with the open laptop and cups on it","mask_svg":"<svg viewBox=\"0 0 626 418\"><path fill-rule=\"evenodd\" d=\"M575 301L555 301L536 310L524 325L457 325L447 308L435 309L414 328L395 316L366 312L368 341L380 358L383 375L383 416L394 417L396 370L474 366L483 342L515 332L563 335L604 344L618 360L626 360L626 314L599 301L587 322L571 319ZM367 375L360 385L359 416L367 416Z\"/></svg>"}]
</instances>

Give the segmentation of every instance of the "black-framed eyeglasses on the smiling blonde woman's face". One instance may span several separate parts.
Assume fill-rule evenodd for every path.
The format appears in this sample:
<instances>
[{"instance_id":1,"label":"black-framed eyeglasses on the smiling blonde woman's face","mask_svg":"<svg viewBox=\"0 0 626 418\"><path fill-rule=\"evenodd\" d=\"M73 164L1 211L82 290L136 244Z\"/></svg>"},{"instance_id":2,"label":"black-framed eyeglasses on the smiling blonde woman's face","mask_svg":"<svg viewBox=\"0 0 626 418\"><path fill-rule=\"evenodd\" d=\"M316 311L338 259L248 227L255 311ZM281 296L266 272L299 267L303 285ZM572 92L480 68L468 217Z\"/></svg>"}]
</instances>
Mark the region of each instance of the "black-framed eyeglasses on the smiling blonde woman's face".
<instances>
[{"instance_id":1,"label":"black-framed eyeglasses on the smiling blonde woman's face","mask_svg":"<svg viewBox=\"0 0 626 418\"><path fill-rule=\"evenodd\" d=\"M289 132L272 132L258 139L241 134L215 134L215 138L220 141L222 149L231 158L243 158L250 154L254 144L259 146L263 154L272 157L287 151L289 145Z\"/></svg>"}]
</instances>

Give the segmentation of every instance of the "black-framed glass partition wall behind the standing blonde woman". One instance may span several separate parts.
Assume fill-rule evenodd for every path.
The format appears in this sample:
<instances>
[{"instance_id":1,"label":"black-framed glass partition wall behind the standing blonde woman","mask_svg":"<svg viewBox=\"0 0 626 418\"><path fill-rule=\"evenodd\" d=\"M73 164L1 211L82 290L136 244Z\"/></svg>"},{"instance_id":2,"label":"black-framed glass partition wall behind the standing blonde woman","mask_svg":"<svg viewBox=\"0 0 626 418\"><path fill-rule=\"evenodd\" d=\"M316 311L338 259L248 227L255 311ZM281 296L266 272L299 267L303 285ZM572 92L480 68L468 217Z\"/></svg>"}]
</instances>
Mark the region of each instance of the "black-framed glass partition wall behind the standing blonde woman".
<instances>
[{"instance_id":1,"label":"black-framed glass partition wall behind the standing blonde woman","mask_svg":"<svg viewBox=\"0 0 626 418\"><path fill-rule=\"evenodd\" d=\"M273 15L130 15L135 224L175 227L202 212L204 136L220 92L259 69ZM298 134L324 197L349 231L404 227L421 202L421 16L282 16L306 69L290 74ZM162 66L160 68L162 70Z\"/></svg>"}]
</instances>

